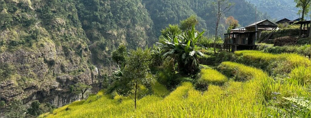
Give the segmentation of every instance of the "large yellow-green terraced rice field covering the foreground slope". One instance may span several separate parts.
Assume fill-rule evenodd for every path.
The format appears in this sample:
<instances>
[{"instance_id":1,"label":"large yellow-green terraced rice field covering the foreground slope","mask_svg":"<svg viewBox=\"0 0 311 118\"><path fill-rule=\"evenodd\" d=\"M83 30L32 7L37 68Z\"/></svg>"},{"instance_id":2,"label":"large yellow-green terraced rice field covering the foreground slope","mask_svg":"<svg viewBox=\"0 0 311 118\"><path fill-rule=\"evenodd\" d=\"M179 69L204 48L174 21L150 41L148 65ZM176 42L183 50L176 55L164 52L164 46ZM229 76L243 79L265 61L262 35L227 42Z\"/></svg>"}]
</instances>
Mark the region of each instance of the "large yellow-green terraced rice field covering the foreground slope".
<instances>
[{"instance_id":1,"label":"large yellow-green terraced rice field covering the foreground slope","mask_svg":"<svg viewBox=\"0 0 311 118\"><path fill-rule=\"evenodd\" d=\"M196 90L192 83L184 82L169 92L165 86L155 83L151 86L153 93L138 100L137 110L134 110L131 98L112 96L100 91L96 95L91 95L86 101L74 102L41 117L310 116L311 110L288 100L296 97L308 98L310 95L307 84L310 84L311 69L307 66L309 62L305 58L299 58L299 55L295 54L280 54L280 56L258 51L238 51L236 54L263 61L282 59L290 63L287 66L292 69L287 73L288 78L274 78L262 69L223 62L217 67L219 72L211 68L202 69L198 81L208 83L206 91ZM297 60L304 63L298 63Z\"/></svg>"}]
</instances>

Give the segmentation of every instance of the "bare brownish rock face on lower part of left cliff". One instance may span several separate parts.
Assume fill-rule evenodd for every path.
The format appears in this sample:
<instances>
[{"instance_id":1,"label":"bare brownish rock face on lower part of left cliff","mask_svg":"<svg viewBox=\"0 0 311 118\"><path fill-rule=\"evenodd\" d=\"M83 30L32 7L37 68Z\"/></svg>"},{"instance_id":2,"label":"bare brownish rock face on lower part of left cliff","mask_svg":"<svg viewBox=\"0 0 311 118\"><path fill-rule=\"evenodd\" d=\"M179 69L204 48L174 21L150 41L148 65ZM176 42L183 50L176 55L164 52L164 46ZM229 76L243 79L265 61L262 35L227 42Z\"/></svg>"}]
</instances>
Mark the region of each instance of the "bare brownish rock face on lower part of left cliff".
<instances>
[{"instance_id":1,"label":"bare brownish rock face on lower part of left cliff","mask_svg":"<svg viewBox=\"0 0 311 118\"><path fill-rule=\"evenodd\" d=\"M86 60L75 54L66 59L63 49L51 43L45 45L34 51L19 49L0 54L0 63L10 64L13 68L12 75L1 80L2 100L23 99L25 103L39 100L62 106L78 98L70 93L69 85L98 83L98 69L90 69ZM83 53L90 55L89 51Z\"/></svg>"}]
</instances>

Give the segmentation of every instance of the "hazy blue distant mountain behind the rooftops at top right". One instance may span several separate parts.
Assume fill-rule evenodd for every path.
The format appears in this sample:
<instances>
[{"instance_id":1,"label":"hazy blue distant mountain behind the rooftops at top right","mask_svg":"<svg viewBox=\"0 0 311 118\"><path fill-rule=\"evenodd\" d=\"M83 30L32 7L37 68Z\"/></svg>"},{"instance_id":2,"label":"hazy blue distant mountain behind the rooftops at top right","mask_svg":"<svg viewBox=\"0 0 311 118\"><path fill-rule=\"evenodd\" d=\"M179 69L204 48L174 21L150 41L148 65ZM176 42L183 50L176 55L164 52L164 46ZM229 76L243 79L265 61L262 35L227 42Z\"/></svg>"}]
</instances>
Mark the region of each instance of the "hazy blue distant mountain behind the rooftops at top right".
<instances>
[{"instance_id":1,"label":"hazy blue distant mountain behind the rooftops at top right","mask_svg":"<svg viewBox=\"0 0 311 118\"><path fill-rule=\"evenodd\" d=\"M275 21L287 18L294 20L299 18L298 8L294 0L248 0L257 6L261 12L267 12Z\"/></svg>"}]
</instances>

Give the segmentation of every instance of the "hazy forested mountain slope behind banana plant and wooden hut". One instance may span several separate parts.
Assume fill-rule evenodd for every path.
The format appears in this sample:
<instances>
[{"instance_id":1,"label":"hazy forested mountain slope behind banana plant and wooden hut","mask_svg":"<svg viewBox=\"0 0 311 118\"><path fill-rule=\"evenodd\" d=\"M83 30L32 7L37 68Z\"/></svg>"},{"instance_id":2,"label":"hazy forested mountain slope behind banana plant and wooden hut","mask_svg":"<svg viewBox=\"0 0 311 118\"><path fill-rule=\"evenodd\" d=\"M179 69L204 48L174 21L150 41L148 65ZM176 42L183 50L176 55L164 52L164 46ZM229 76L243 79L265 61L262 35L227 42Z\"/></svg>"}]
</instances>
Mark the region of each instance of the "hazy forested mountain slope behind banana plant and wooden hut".
<instances>
[{"instance_id":1,"label":"hazy forested mountain slope behind banana plant and wooden hut","mask_svg":"<svg viewBox=\"0 0 311 118\"><path fill-rule=\"evenodd\" d=\"M225 14L226 17L235 17L241 26L255 22L255 7L245 0L230 0L234 7ZM179 21L195 14L198 17L197 29L206 29L210 34L215 32L216 13L213 10L212 0L142 0L154 22L154 29L159 31L168 24L178 24ZM269 19L269 16L258 12L258 21ZM224 21L221 21L224 23ZM226 28L220 27L220 33ZM157 32L159 35L159 32Z\"/></svg>"}]
</instances>

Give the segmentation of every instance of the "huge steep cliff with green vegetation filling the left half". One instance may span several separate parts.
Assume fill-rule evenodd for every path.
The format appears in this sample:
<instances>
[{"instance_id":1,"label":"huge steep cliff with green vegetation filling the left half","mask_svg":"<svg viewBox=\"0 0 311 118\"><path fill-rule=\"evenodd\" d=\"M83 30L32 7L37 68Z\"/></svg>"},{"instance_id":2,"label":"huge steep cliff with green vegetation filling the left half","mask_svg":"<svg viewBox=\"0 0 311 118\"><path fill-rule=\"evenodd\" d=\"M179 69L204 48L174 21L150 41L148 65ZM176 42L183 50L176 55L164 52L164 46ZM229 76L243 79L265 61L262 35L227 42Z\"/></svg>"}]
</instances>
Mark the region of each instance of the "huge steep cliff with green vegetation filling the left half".
<instances>
[{"instance_id":1,"label":"huge steep cliff with green vegetation filling the left half","mask_svg":"<svg viewBox=\"0 0 311 118\"><path fill-rule=\"evenodd\" d=\"M0 0L0 13L4 101L70 103L78 96L69 85L83 82L96 89L98 76L111 72L115 47L155 41L139 0Z\"/></svg>"}]
</instances>

